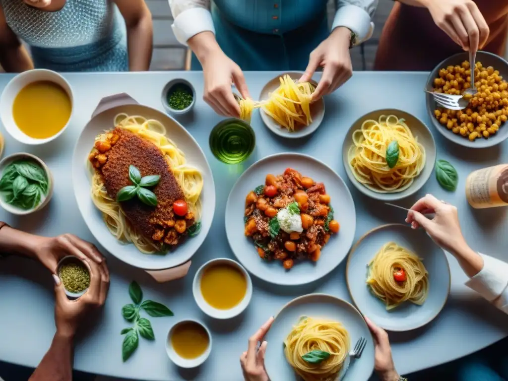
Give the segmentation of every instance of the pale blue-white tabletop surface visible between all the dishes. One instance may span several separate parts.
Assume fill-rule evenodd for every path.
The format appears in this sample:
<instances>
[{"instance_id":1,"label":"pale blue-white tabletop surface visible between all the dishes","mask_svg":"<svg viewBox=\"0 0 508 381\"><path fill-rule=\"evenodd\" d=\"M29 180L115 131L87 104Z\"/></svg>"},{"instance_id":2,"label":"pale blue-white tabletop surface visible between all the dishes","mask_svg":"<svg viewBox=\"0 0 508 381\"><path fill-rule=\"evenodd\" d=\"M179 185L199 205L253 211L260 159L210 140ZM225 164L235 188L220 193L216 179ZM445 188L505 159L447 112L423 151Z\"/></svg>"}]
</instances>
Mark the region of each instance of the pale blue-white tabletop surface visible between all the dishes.
<instances>
[{"instance_id":1,"label":"pale blue-white tabletop surface visible between all the dishes","mask_svg":"<svg viewBox=\"0 0 508 381\"><path fill-rule=\"evenodd\" d=\"M278 74L246 72L245 78L252 96L258 97L265 83ZM45 145L26 146L8 136L3 126L0 130L5 137L4 156L20 151L30 152L49 166L55 180L53 198L42 211L24 217L0 210L0 220L35 234L55 236L69 232L97 244L79 213L72 187L71 157L77 137L99 101L114 93L126 92L139 103L164 111L161 91L174 78L185 78L196 88L197 102L193 112L177 120L204 150L216 188L212 227L184 278L160 284L145 271L126 265L105 252L111 273L109 296L101 312L87 319L83 332L76 340L74 368L77 370L141 380L239 380L242 379L242 373L238 359L247 348L248 337L285 303L308 293L327 293L351 301L345 283L345 260L323 279L298 287L274 286L252 277L250 305L243 314L229 321L216 321L201 312L193 298L192 280L204 262L218 257L235 258L226 239L226 200L240 174L269 154L288 151L306 153L334 169L346 182L355 201L355 240L376 226L403 223L404 211L364 196L344 172L340 150L345 133L356 119L372 110L395 108L419 117L434 135L437 158L451 162L459 173L456 192L450 193L440 188L432 175L416 195L398 204L408 207L419 197L432 193L438 199L456 205L463 233L471 247L508 261L508 208L472 209L464 192L465 180L471 171L508 163L508 141L487 149L467 149L442 137L431 125L425 109L423 88L428 73L354 73L345 85L325 97L323 123L313 135L304 139L290 140L275 136L263 124L259 113L255 112L251 124L256 132L256 149L246 162L234 166L217 161L210 151L209 132L221 117L202 99L201 72L76 73L64 76L73 88L75 108L64 134ZM0 90L12 77L10 74L0 75ZM314 79L319 80L319 75L315 75ZM340 206L335 209L340 211ZM423 328L390 333L395 364L402 374L468 355L508 335L508 316L470 291L464 285L466 276L457 261L447 256L452 286L441 313ZM123 336L120 331L129 324L124 321L121 308L130 303L128 286L132 280L141 285L146 299L166 304L175 316L150 318L155 340L140 338L138 350L123 363ZM16 257L0 261L1 361L30 367L36 367L41 361L55 330L52 282L51 275L38 263ZM168 359L165 350L169 329L185 318L204 322L212 334L211 355L201 367L194 370L177 368Z\"/></svg>"}]
</instances>

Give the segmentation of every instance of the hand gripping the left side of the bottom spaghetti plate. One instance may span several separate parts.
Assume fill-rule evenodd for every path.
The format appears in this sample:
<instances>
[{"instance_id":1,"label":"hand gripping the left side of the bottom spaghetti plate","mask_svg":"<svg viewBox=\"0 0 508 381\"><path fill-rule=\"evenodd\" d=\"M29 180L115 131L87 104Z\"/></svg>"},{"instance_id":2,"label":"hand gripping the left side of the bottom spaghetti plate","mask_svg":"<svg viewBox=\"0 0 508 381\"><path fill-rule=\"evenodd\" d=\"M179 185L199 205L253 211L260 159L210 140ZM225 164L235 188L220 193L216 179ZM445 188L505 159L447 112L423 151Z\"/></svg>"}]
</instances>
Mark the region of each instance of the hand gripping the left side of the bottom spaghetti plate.
<instances>
[{"instance_id":1,"label":"hand gripping the left side of the bottom spaghetti plate","mask_svg":"<svg viewBox=\"0 0 508 381\"><path fill-rule=\"evenodd\" d=\"M261 328L250 336L247 352L240 356L240 364L242 366L243 377L245 381L269 381L268 374L265 370L265 351L266 341L263 341L266 333L273 323L273 316L261 326ZM258 342L261 342L258 349Z\"/></svg>"}]
</instances>

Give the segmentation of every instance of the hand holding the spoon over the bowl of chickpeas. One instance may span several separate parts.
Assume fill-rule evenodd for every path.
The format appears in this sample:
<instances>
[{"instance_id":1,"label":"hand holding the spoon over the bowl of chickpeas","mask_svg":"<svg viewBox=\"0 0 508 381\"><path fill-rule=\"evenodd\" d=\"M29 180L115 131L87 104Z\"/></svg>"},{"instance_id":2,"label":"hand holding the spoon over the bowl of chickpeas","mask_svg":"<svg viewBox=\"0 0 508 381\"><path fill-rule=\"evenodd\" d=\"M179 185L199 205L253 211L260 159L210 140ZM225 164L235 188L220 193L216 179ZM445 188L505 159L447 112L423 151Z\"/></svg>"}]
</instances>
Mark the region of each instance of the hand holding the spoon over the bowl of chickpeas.
<instances>
[{"instance_id":1,"label":"hand holding the spoon over the bowl of chickpeas","mask_svg":"<svg viewBox=\"0 0 508 381\"><path fill-rule=\"evenodd\" d=\"M464 50L482 49L489 26L472 0L426 0L436 25Z\"/></svg>"}]
</instances>

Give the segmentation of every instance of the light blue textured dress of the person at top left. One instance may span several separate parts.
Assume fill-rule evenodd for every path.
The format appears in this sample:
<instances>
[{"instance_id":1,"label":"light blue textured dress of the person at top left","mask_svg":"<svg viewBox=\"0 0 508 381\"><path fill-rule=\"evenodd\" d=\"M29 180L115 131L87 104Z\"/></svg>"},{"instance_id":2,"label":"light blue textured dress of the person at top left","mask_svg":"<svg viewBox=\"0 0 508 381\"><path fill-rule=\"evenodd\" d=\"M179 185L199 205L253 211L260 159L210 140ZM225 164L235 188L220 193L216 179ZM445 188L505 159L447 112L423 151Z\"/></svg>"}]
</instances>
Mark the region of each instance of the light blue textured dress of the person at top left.
<instances>
[{"instance_id":1,"label":"light blue textured dress of the person at top left","mask_svg":"<svg viewBox=\"0 0 508 381\"><path fill-rule=\"evenodd\" d=\"M8 25L36 68L59 72L129 70L125 25L111 0L67 0L56 12L0 0Z\"/></svg>"}]
</instances>

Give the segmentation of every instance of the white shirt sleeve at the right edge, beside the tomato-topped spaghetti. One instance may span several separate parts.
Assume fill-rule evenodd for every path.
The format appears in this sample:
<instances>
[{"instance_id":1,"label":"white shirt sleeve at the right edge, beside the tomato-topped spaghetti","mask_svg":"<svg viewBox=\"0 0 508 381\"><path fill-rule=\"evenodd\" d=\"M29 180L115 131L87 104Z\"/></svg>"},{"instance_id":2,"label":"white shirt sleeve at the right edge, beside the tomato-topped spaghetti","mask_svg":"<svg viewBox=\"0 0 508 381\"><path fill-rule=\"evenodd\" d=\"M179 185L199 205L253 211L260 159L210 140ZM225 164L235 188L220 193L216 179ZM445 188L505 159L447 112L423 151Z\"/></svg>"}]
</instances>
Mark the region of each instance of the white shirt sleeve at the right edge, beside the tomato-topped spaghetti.
<instances>
[{"instance_id":1,"label":"white shirt sleeve at the right edge, beside the tomato-topped spaghetti","mask_svg":"<svg viewBox=\"0 0 508 381\"><path fill-rule=\"evenodd\" d=\"M466 282L501 311L508 313L508 263L480 254L483 269Z\"/></svg>"}]
</instances>

